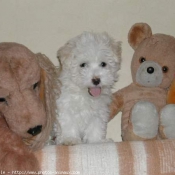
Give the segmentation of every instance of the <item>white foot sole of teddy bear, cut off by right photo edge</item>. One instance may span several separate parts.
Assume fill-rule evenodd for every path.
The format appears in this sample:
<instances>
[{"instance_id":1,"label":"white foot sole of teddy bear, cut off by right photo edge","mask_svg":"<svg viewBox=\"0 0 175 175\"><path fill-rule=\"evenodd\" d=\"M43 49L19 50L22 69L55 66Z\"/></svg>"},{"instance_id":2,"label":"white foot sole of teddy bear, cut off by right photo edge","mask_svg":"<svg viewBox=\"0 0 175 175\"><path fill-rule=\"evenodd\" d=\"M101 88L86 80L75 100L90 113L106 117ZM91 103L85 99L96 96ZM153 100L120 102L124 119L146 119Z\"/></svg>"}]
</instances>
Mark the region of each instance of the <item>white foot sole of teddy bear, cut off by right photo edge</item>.
<instances>
[{"instance_id":1,"label":"white foot sole of teddy bear, cut off by right photo edge","mask_svg":"<svg viewBox=\"0 0 175 175\"><path fill-rule=\"evenodd\" d=\"M166 105L160 114L160 130L166 138L175 138L175 104Z\"/></svg>"}]
</instances>

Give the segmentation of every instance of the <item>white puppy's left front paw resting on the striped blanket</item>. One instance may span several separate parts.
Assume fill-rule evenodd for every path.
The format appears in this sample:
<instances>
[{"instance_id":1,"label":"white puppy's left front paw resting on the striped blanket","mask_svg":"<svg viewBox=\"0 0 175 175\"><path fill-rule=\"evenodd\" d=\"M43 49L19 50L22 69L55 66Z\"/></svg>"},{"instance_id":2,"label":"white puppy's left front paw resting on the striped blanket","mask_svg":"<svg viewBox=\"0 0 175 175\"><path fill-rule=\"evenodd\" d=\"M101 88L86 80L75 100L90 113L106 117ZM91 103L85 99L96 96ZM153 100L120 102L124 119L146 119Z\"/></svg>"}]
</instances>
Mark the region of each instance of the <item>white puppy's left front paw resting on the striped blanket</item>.
<instances>
[{"instance_id":1,"label":"white puppy's left front paw resting on the striped blanket","mask_svg":"<svg viewBox=\"0 0 175 175\"><path fill-rule=\"evenodd\" d=\"M81 144L82 141L80 138L74 138L74 137L62 137L56 139L57 145L66 145L66 146L72 146L72 145L78 145Z\"/></svg>"}]
</instances>

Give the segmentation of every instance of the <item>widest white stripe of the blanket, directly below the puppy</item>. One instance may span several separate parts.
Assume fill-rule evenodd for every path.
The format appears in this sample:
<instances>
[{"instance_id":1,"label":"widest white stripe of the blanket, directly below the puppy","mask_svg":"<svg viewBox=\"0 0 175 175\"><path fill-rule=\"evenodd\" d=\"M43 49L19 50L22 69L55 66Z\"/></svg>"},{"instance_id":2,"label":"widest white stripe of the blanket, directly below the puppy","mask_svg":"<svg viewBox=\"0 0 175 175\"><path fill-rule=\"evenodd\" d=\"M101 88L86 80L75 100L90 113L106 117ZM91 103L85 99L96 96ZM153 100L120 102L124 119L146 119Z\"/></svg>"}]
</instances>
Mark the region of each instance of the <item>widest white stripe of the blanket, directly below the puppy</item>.
<instances>
[{"instance_id":1,"label":"widest white stripe of the blanket, directly below the puppy","mask_svg":"<svg viewBox=\"0 0 175 175\"><path fill-rule=\"evenodd\" d=\"M115 143L70 147L71 170L80 175L119 175L119 156Z\"/></svg>"}]
</instances>

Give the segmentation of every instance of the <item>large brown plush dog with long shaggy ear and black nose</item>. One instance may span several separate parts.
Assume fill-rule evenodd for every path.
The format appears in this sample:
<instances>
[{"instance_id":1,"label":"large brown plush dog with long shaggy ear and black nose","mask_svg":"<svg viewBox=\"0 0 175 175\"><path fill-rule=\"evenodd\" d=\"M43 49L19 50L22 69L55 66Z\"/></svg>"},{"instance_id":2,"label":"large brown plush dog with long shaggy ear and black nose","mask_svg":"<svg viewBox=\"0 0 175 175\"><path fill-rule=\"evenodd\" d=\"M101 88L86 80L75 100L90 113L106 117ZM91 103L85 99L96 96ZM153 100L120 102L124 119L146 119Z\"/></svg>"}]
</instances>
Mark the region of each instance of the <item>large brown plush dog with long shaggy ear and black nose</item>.
<instances>
[{"instance_id":1,"label":"large brown plush dog with long shaggy ear and black nose","mask_svg":"<svg viewBox=\"0 0 175 175\"><path fill-rule=\"evenodd\" d=\"M17 43L0 43L0 170L40 170L33 151L52 129L59 95L49 59Z\"/></svg>"}]
</instances>

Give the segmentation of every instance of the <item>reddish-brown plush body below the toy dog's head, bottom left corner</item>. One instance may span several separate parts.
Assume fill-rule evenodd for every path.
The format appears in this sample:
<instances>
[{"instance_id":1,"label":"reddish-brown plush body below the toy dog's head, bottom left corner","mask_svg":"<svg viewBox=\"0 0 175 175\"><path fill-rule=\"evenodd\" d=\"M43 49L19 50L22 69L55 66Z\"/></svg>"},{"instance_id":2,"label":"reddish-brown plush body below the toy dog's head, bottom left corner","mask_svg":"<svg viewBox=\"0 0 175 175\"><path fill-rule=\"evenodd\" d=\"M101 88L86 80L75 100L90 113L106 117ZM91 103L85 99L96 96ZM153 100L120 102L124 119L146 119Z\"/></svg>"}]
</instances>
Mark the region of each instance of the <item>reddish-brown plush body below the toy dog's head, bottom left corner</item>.
<instances>
[{"instance_id":1,"label":"reddish-brown plush body below the toy dog's head, bottom left corner","mask_svg":"<svg viewBox=\"0 0 175 175\"><path fill-rule=\"evenodd\" d=\"M12 171L37 171L39 163L22 139L9 130L3 117L0 118L0 170L6 174Z\"/></svg>"}]
</instances>

